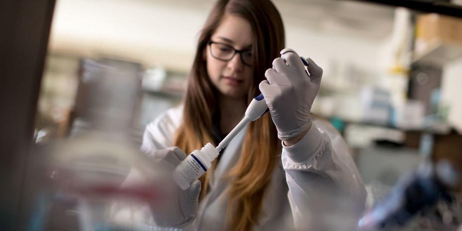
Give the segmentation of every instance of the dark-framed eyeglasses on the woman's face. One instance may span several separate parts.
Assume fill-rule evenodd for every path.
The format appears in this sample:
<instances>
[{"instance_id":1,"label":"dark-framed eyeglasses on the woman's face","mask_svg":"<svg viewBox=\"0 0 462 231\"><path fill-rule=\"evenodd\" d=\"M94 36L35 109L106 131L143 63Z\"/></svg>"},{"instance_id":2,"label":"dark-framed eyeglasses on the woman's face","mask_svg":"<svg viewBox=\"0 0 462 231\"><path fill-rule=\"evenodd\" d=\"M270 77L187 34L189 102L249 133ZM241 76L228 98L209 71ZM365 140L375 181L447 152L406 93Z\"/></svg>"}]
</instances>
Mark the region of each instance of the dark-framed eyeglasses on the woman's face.
<instances>
[{"instance_id":1,"label":"dark-framed eyeglasses on the woman's face","mask_svg":"<svg viewBox=\"0 0 462 231\"><path fill-rule=\"evenodd\" d=\"M240 55L240 61L247 66L253 65L253 53L252 50L236 50L230 45L217 43L213 41L209 41L207 43L210 46L210 54L215 59L221 61L230 61L236 53Z\"/></svg>"}]
</instances>

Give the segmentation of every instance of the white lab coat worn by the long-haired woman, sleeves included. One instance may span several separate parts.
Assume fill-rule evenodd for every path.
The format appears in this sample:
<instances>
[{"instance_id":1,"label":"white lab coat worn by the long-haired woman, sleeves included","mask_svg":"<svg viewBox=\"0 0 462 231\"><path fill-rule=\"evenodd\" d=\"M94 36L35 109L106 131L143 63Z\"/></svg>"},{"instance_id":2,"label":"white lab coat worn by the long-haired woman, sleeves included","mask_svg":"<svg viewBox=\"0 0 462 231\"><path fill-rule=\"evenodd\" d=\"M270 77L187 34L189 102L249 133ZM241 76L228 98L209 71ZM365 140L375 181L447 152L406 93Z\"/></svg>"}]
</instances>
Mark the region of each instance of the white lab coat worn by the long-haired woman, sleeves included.
<instances>
[{"instance_id":1,"label":"white lab coat worn by the long-haired woman, sleeves included","mask_svg":"<svg viewBox=\"0 0 462 231\"><path fill-rule=\"evenodd\" d=\"M142 151L174 146L183 107L167 110L151 122ZM223 178L240 154L243 129L228 145L210 179L210 192L200 202L195 231L224 231L229 181ZM205 145L205 144L204 144ZM263 199L263 213L253 231L355 230L364 209L366 191L340 134L327 122L315 120L294 146L285 147Z\"/></svg>"}]
</instances>

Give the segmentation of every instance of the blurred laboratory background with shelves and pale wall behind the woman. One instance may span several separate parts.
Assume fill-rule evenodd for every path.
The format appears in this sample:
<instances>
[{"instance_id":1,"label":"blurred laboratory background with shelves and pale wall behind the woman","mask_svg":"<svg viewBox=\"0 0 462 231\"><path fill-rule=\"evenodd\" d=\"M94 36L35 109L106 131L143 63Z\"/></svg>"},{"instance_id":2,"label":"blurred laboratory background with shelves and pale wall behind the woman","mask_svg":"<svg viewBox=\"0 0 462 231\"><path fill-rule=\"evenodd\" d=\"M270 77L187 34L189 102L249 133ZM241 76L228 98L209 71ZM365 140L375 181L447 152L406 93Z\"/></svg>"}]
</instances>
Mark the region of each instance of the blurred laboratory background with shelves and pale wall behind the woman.
<instances>
[{"instance_id":1,"label":"blurred laboratory background with shelves and pale wall behind the woman","mask_svg":"<svg viewBox=\"0 0 462 231\"><path fill-rule=\"evenodd\" d=\"M130 112L121 115L134 118L125 133L139 146L144 127L181 102L213 2L56 0L34 143L76 136L91 127L92 108L107 107ZM440 2L455 10L462 5ZM344 136L368 193L383 197L424 160L446 158L462 166L461 17L369 1L274 3L285 24L286 47L324 70L312 112ZM104 102L114 104L95 103L103 96L89 93L92 76L111 73L131 80L117 85L106 79L101 86L115 86L130 100L102 93ZM121 104L124 110L114 109ZM61 230L60 224L53 229Z\"/></svg>"}]
</instances>

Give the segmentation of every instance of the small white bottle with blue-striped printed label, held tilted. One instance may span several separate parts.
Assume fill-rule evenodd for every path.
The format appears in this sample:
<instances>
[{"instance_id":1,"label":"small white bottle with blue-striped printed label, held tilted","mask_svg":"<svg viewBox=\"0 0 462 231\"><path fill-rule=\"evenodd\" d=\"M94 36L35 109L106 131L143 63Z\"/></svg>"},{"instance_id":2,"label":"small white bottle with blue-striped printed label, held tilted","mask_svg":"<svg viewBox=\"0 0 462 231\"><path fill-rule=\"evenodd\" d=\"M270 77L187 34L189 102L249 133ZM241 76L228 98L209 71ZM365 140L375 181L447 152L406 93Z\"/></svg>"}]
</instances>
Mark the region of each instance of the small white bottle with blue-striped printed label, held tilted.
<instances>
[{"instance_id":1,"label":"small white bottle with blue-striped printed label, held tilted","mask_svg":"<svg viewBox=\"0 0 462 231\"><path fill-rule=\"evenodd\" d=\"M181 189L186 190L193 181L204 175L218 154L219 152L210 143L200 151L194 150L173 170L173 180Z\"/></svg>"}]
</instances>

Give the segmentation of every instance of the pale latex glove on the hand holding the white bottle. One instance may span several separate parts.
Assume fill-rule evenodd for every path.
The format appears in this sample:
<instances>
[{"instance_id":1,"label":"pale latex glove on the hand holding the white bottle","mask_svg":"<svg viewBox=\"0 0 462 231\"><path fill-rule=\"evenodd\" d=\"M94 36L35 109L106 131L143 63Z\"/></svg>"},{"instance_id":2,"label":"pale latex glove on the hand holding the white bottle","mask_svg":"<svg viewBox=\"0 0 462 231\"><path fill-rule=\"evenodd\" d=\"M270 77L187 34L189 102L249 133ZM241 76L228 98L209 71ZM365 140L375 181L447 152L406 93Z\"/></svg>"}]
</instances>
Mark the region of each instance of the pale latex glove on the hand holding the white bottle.
<instances>
[{"instance_id":1,"label":"pale latex glove on the hand holding the white bottle","mask_svg":"<svg viewBox=\"0 0 462 231\"><path fill-rule=\"evenodd\" d=\"M184 158L186 158L186 154L178 147L157 150L154 153L156 164L162 165L163 170L168 172L170 188L164 190L169 190L169 195L171 195L171 197L162 200L161 204L155 204L151 208L154 222L157 225L183 228L191 224L196 217L201 182L195 180L188 189L183 191L171 179L171 172Z\"/></svg>"}]
</instances>

